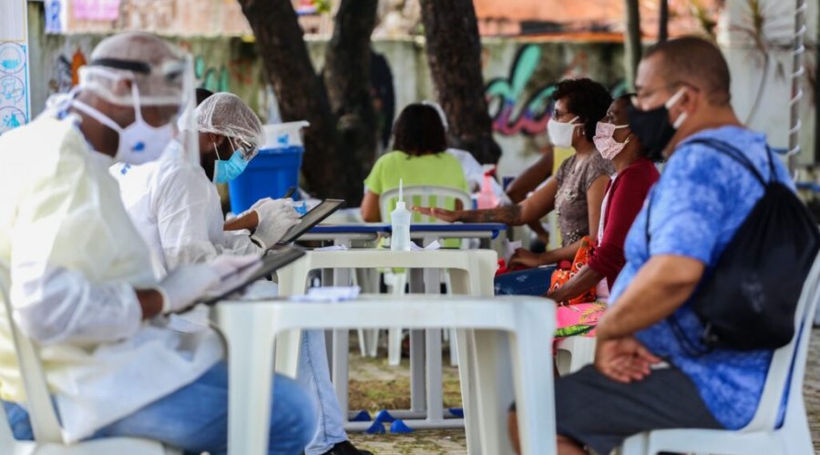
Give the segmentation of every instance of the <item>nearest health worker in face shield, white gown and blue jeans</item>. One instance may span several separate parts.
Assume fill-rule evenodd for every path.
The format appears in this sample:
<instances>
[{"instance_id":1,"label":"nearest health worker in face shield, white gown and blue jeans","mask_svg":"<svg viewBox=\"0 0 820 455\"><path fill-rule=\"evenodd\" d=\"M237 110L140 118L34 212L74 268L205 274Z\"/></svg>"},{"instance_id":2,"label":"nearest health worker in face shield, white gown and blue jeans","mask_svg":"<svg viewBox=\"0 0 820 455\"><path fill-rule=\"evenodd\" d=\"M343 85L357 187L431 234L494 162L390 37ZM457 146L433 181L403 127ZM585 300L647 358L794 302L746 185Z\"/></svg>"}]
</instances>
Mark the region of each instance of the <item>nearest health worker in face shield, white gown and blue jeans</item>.
<instances>
[{"instance_id":1,"label":"nearest health worker in face shield, white gown and blue jeans","mask_svg":"<svg viewBox=\"0 0 820 455\"><path fill-rule=\"evenodd\" d=\"M180 333L163 314L220 293L258 255L152 273L148 248L108 168L155 160L176 135L183 55L155 35L102 40L79 85L0 136L0 396L17 439L32 439L8 311L35 341L67 442L131 436L187 452L227 449L227 368L212 330ZM190 89L193 96L193 89ZM25 150L26 153L21 153ZM269 453L298 453L315 411L274 381Z\"/></svg>"}]
</instances>

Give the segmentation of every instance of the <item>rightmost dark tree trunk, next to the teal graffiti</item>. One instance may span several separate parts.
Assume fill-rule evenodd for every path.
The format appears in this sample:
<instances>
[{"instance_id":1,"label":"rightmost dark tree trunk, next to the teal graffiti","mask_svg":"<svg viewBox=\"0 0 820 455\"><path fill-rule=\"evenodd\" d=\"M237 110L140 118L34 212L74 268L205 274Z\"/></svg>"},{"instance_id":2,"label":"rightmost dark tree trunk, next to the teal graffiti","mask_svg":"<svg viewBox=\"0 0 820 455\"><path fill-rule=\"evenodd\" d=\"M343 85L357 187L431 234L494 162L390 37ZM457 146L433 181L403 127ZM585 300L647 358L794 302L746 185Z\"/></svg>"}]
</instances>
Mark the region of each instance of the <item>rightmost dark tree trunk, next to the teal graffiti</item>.
<instances>
[{"instance_id":1,"label":"rightmost dark tree trunk, next to the teal graffiti","mask_svg":"<svg viewBox=\"0 0 820 455\"><path fill-rule=\"evenodd\" d=\"M472 0L421 0L426 53L454 147L480 163L497 163L481 75L481 40Z\"/></svg>"}]
</instances>

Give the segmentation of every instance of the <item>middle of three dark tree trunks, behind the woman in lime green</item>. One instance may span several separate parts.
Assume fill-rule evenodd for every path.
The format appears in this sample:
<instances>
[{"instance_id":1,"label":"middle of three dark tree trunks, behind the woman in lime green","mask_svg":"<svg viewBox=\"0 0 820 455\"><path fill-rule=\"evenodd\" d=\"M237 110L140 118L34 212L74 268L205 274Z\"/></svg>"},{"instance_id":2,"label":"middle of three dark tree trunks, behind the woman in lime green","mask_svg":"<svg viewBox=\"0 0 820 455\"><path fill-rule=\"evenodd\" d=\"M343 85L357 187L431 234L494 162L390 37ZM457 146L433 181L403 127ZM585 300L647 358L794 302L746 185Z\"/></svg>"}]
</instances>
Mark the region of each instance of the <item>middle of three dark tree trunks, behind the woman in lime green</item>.
<instances>
[{"instance_id":1,"label":"middle of three dark tree trunks, behind the woman in lime green","mask_svg":"<svg viewBox=\"0 0 820 455\"><path fill-rule=\"evenodd\" d=\"M373 167L379 128L371 96L370 35L378 0L342 0L324 61L324 85L338 119L338 147L348 160L348 201L361 199Z\"/></svg>"}]
</instances>

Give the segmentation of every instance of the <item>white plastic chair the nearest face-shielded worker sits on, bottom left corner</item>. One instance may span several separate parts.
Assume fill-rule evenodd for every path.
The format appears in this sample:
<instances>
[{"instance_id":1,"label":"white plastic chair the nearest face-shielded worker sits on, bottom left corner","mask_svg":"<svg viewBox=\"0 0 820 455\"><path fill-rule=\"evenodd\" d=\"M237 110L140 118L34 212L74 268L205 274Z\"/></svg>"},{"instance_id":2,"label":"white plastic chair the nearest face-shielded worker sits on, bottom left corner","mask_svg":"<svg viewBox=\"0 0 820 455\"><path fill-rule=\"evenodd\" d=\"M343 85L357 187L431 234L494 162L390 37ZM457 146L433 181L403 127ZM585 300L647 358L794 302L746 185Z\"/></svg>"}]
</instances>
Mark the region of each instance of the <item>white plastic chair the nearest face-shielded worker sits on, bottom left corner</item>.
<instances>
[{"instance_id":1,"label":"white plastic chair the nearest face-shielded worker sits on, bottom left corner","mask_svg":"<svg viewBox=\"0 0 820 455\"><path fill-rule=\"evenodd\" d=\"M46 374L34 344L20 331L12 318L11 300L0 279L0 297L3 298L5 323L9 324L15 343L15 354L20 375L26 388L28 418L35 440L15 440L5 416L0 419L0 453L8 455L171 455L179 450L164 447L160 442L142 438L106 438L67 444L56 411L46 386Z\"/></svg>"}]
</instances>

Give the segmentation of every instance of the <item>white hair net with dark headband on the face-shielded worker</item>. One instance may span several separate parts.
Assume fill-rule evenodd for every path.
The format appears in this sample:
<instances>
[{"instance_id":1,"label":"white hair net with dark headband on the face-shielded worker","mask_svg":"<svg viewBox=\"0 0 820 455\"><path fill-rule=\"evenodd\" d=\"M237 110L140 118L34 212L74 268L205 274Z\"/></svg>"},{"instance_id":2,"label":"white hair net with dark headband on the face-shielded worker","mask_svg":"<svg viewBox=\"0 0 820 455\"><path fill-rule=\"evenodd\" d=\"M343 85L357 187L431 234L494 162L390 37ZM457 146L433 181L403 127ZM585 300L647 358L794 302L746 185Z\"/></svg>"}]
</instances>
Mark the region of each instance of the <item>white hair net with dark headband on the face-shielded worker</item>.
<instances>
[{"instance_id":1,"label":"white hair net with dark headband on the face-shielded worker","mask_svg":"<svg viewBox=\"0 0 820 455\"><path fill-rule=\"evenodd\" d=\"M110 36L94 48L79 69L79 86L119 106L134 106L128 84L136 84L141 106L179 105L184 87L184 54L156 35L128 32Z\"/></svg>"}]
</instances>

